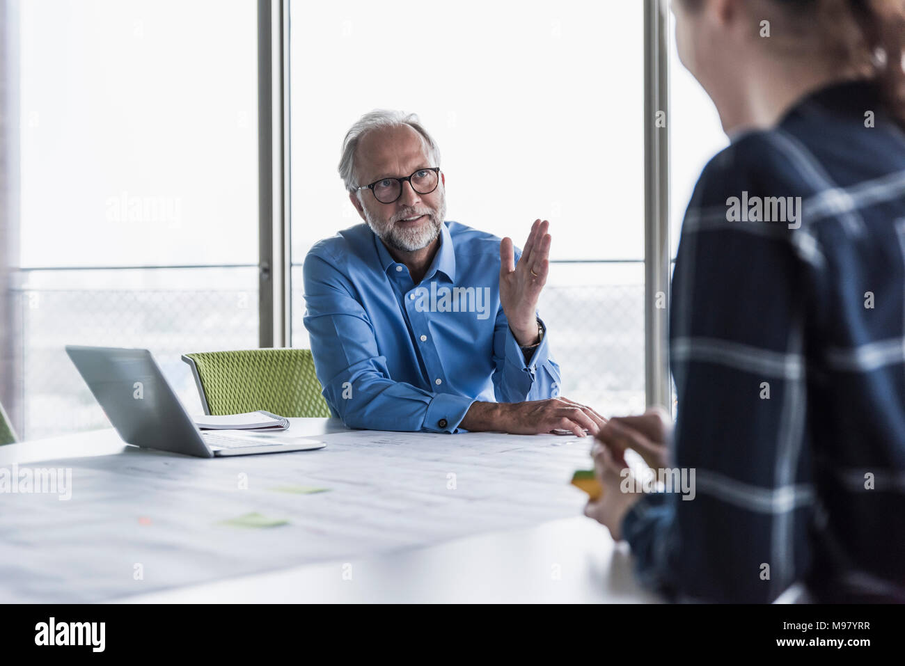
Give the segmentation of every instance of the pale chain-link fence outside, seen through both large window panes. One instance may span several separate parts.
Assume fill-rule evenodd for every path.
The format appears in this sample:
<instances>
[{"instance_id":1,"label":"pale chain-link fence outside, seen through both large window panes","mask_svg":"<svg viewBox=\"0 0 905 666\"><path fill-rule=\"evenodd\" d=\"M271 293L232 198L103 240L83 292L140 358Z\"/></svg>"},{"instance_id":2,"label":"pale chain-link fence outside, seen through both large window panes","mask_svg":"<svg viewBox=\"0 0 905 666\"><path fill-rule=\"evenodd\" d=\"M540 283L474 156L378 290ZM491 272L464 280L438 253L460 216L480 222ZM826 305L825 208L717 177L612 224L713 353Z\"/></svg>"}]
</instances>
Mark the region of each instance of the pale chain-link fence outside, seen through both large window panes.
<instances>
[{"instance_id":1,"label":"pale chain-link fence outside, seen through both large window panes","mask_svg":"<svg viewBox=\"0 0 905 666\"><path fill-rule=\"evenodd\" d=\"M594 271L599 278L607 269L594 266ZM67 271L58 272L50 286L46 280L29 280L34 283L26 281L14 291L21 312L23 377L21 408L11 415L23 438L109 425L66 356L66 345L150 349L190 414L201 414L202 407L181 355L258 346L254 269L193 269L177 279L156 278L167 285L157 288L142 288L126 279L126 271L105 271L103 282L121 288L78 284ZM198 273L206 275L199 279ZM300 267L293 268L293 280L293 345L307 347ZM59 288L61 282L73 282L74 288ZM178 286L199 282L210 286ZM643 297L640 268L616 283L548 284L539 309L562 370L563 395L605 415L643 410Z\"/></svg>"}]
</instances>

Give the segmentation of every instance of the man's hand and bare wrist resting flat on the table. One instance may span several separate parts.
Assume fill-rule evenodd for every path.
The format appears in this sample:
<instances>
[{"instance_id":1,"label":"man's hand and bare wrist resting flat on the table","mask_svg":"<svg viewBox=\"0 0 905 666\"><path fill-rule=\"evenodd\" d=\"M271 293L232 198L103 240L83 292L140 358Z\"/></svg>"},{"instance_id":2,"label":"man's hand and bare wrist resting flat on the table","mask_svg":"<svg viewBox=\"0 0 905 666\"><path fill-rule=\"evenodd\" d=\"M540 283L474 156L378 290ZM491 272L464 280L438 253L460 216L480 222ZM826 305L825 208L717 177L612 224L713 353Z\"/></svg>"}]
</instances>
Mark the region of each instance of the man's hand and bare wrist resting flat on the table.
<instances>
[{"instance_id":1,"label":"man's hand and bare wrist resting flat on the table","mask_svg":"<svg viewBox=\"0 0 905 666\"><path fill-rule=\"evenodd\" d=\"M510 434L541 434L567 430L578 437L597 434L606 419L593 409L559 396L524 403L473 403L462 428Z\"/></svg>"}]
</instances>

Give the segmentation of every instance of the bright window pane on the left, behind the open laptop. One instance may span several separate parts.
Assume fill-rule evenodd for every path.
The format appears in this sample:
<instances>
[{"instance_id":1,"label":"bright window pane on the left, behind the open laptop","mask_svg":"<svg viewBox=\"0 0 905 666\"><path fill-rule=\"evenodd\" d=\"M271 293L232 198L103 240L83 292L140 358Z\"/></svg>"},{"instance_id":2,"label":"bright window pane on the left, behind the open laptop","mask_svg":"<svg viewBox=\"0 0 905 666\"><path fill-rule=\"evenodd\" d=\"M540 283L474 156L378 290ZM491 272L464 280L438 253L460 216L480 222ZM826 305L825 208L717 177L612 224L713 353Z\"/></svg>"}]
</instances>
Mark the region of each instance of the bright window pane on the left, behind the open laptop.
<instances>
[{"instance_id":1,"label":"bright window pane on the left, behind the open laptop","mask_svg":"<svg viewBox=\"0 0 905 666\"><path fill-rule=\"evenodd\" d=\"M258 342L255 4L13 5L8 411L30 439L104 427L63 351L86 344L150 348L200 412L179 356Z\"/></svg>"}]
</instances>

